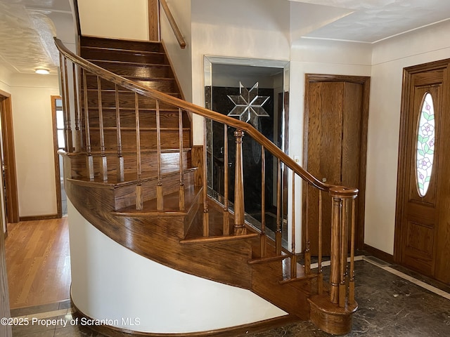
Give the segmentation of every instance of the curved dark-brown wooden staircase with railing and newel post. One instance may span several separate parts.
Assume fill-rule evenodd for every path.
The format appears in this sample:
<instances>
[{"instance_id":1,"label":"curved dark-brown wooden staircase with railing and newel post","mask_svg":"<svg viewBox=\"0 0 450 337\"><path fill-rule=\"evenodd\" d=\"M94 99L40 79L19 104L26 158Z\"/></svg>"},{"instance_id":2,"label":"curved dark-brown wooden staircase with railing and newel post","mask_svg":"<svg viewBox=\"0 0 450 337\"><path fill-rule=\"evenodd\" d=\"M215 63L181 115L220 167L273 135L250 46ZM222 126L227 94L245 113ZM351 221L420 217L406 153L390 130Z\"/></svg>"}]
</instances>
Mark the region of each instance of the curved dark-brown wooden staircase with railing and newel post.
<instances>
[{"instance_id":1,"label":"curved dark-brown wooden staircase with railing and newel post","mask_svg":"<svg viewBox=\"0 0 450 337\"><path fill-rule=\"evenodd\" d=\"M180 100L183 95L159 42L82 37L81 57L60 41L56 44L64 88L67 147L60 154L65 189L86 220L115 242L162 265L250 289L324 331L342 334L351 329L357 305L353 266L347 270L343 242L353 232L354 225L348 223L354 217L341 209L351 209L357 191L319 182L252 126ZM203 148L192 145L192 113L236 128L236 158L242 157L238 152L244 130L263 150L279 156L278 167L283 162L330 195L337 235L344 235L338 249L345 250L332 256L337 267L332 267L330 286L322 282L321 257L319 270L311 271L309 242L302 261L295 253L295 239L291 250L281 247L279 214L271 239L264 224L257 229L244 222L239 198L231 212L227 201L219 204L207 196L207 161ZM243 184L238 161L235 175L239 191Z\"/></svg>"}]
</instances>

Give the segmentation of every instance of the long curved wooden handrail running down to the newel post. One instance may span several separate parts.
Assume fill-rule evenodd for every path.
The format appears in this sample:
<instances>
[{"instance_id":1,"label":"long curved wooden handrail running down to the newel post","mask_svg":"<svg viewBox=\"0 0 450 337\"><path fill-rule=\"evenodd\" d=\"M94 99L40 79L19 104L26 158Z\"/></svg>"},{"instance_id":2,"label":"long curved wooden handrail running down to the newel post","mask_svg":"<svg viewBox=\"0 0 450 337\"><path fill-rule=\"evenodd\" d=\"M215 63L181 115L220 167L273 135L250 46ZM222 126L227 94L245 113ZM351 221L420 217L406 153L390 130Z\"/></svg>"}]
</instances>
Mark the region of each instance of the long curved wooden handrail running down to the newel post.
<instances>
[{"instance_id":1,"label":"long curved wooden handrail running down to the newel post","mask_svg":"<svg viewBox=\"0 0 450 337\"><path fill-rule=\"evenodd\" d=\"M290 158L287 154L281 151L279 147L277 147L269 139L264 137L262 133L257 131L257 129L253 127L251 124L248 124L245 121L240 121L239 119L228 117L224 114L220 114L219 112L214 112L204 107L194 105L193 103L188 103L185 100L181 100L174 96L167 95L166 93L162 93L152 88L141 86L134 81L125 79L124 77L120 77L119 75L114 74L113 72L109 72L108 70L105 70L102 67L98 67L98 65L94 65L94 63L91 63L87 60L84 60L84 58L75 55L64 46L63 42L60 41L60 39L55 38L55 44L56 47L58 48L58 51L60 51L60 53L62 53L65 56L65 58L76 63L80 67L89 70L89 72L91 72L92 74L96 74L99 77L103 77L103 79L106 79L114 84L122 86L123 88L127 88L131 91L139 93L140 95L149 98L155 98L160 102L165 102L169 105L174 105L175 107L181 108L181 110L187 110L188 112L193 112L194 114L198 114L202 117L206 117L212 119L213 121L217 121L221 124L227 124L229 126L232 126L233 128L237 128L244 131L246 135L252 137L260 145L263 145L264 149L269 151L272 155L274 155L274 157L279 158L283 162L283 164L288 166L289 169L297 173L297 175L302 177L303 180L306 180L310 185L319 188L319 190L329 192L331 187L338 187L335 185L322 183L319 179L312 176L311 173L304 170L302 166L300 166L299 164L297 164L297 162L295 162L294 159ZM354 194L355 196L358 193L358 190L355 188L340 186L340 190L342 193Z\"/></svg>"}]
</instances>

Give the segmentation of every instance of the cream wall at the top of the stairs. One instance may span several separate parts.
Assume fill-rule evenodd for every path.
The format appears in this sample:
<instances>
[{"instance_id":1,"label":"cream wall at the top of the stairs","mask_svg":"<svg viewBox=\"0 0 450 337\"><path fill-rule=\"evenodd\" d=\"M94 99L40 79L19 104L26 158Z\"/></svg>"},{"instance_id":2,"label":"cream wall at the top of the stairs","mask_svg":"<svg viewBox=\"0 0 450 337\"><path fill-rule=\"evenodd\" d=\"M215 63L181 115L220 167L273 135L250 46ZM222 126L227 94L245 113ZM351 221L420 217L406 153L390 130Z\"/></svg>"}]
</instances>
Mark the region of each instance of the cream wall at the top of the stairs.
<instances>
[{"instance_id":1,"label":"cream wall at the top of the stairs","mask_svg":"<svg viewBox=\"0 0 450 337\"><path fill-rule=\"evenodd\" d=\"M148 41L147 0L78 0L83 35Z\"/></svg>"}]
</instances>

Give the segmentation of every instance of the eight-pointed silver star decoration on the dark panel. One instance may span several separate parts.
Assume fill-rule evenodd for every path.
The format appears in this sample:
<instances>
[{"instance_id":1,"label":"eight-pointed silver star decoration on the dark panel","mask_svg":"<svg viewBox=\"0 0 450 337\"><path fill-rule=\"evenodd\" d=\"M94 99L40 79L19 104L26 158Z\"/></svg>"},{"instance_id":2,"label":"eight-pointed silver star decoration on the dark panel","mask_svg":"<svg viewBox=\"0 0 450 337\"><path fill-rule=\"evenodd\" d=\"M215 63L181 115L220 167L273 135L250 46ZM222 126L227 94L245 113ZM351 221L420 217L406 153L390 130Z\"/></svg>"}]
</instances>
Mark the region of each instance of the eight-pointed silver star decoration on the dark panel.
<instances>
[{"instance_id":1,"label":"eight-pointed silver star decoration on the dark panel","mask_svg":"<svg viewBox=\"0 0 450 337\"><path fill-rule=\"evenodd\" d=\"M235 105L228 116L239 117L241 121L250 123L255 127L259 126L259 117L269 117L262 106L269 100L270 96L258 95L258 82L250 90L239 82L239 91L239 95L228 95L228 98Z\"/></svg>"}]
</instances>

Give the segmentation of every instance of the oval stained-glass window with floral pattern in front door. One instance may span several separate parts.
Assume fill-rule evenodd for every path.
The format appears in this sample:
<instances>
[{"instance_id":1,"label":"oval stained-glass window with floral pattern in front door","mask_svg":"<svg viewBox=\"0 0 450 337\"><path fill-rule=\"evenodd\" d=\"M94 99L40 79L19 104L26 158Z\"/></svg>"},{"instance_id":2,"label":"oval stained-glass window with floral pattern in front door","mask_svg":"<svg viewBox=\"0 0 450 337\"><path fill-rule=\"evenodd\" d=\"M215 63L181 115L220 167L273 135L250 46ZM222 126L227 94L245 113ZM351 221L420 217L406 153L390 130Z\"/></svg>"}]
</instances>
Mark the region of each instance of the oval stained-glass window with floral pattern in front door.
<instances>
[{"instance_id":1,"label":"oval stained-glass window with floral pattern in front door","mask_svg":"<svg viewBox=\"0 0 450 337\"><path fill-rule=\"evenodd\" d=\"M425 197L435 158L435 108L430 93L425 93L417 132L416 179L420 197Z\"/></svg>"}]
</instances>

